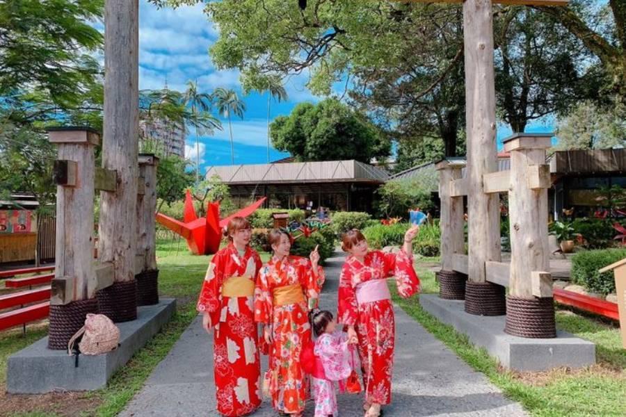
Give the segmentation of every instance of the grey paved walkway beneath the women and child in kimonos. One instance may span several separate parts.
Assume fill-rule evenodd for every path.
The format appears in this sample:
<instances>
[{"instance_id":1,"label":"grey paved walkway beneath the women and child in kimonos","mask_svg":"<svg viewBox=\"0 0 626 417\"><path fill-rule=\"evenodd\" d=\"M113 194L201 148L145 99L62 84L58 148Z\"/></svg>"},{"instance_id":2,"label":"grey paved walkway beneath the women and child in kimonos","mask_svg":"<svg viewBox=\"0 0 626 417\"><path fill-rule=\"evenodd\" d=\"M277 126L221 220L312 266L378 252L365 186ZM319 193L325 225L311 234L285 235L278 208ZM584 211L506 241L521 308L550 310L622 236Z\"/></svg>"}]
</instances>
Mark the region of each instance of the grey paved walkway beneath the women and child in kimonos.
<instances>
[{"instance_id":1,"label":"grey paved walkway beneath the women and child in kimonos","mask_svg":"<svg viewBox=\"0 0 626 417\"><path fill-rule=\"evenodd\" d=\"M321 306L336 311L343 258L328 260ZM166 359L120 416L218 416L215 404L212 343L200 316L182 334ZM266 361L263 363L266 367ZM396 356L392 404L385 416L526 416L481 373L396 308ZM362 395L339 395L342 417L362 416ZM267 400L254 416L276 416ZM313 416L309 404L305 416Z\"/></svg>"}]
</instances>

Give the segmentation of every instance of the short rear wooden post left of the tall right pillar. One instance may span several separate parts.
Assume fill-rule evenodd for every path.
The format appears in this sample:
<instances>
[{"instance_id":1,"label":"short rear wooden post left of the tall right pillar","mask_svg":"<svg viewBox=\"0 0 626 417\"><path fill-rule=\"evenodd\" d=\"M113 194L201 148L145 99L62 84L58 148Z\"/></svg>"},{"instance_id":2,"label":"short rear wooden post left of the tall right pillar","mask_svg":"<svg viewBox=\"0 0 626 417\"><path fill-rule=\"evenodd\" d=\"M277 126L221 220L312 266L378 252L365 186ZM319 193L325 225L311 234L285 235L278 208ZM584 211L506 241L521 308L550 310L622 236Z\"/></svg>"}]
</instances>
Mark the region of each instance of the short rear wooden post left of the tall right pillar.
<instances>
[{"instance_id":1,"label":"short rear wooden post left of the tall right pillar","mask_svg":"<svg viewBox=\"0 0 626 417\"><path fill-rule=\"evenodd\" d=\"M441 263L442 270L454 270L453 255L463 254L465 235L463 233L463 196L452 197L452 181L461 178L465 163L441 161L436 166L439 171L439 198L441 201Z\"/></svg>"}]
</instances>

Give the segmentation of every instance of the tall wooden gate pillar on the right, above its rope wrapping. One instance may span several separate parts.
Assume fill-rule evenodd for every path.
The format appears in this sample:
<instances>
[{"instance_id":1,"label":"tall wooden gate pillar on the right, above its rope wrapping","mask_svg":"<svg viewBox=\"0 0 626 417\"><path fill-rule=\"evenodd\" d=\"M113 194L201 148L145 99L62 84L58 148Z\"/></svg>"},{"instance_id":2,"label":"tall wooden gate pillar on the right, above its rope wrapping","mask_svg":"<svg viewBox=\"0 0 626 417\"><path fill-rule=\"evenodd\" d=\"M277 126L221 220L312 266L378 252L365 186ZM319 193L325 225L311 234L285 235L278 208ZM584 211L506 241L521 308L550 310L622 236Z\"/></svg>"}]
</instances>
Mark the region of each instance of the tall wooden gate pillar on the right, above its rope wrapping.
<instances>
[{"instance_id":1,"label":"tall wooden gate pillar on the right, above its rope wrapping","mask_svg":"<svg viewBox=\"0 0 626 417\"><path fill-rule=\"evenodd\" d=\"M485 281L485 262L500 261L499 202L483 192L497 171L493 17L490 0L465 0L465 121L467 130L468 275Z\"/></svg>"}]
</instances>

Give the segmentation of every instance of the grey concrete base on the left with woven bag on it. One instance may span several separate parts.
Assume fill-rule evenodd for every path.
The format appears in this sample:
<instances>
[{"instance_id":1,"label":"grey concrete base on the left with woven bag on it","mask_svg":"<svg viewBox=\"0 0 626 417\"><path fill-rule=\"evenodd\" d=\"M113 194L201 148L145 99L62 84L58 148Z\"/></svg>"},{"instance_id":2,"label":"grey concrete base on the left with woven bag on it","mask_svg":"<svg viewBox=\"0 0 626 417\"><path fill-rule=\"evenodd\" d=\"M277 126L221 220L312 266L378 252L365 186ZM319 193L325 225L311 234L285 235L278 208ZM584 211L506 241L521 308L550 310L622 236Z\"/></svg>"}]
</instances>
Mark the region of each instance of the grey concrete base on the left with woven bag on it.
<instances>
[{"instance_id":1,"label":"grey concrete base on the left with woven bag on it","mask_svg":"<svg viewBox=\"0 0 626 417\"><path fill-rule=\"evenodd\" d=\"M67 350L50 350L48 338L40 339L8 359L6 391L8 393L47 393L50 391L88 391L106 386L115 370L143 347L170 320L176 300L138 308L137 319L117 323L120 346L106 354L75 357Z\"/></svg>"}]
</instances>

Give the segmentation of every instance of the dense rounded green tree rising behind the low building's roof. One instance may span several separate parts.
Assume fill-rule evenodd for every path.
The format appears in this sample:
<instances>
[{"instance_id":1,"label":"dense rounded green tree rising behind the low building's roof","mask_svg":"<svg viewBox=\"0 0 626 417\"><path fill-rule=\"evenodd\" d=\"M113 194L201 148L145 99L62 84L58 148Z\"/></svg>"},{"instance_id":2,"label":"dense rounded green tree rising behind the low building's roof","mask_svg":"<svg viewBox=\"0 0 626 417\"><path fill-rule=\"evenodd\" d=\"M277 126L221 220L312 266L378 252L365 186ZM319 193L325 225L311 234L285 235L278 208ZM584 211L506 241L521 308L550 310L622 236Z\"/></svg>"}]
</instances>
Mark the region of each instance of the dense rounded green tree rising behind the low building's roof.
<instances>
[{"instance_id":1,"label":"dense rounded green tree rising behind the low building's roof","mask_svg":"<svg viewBox=\"0 0 626 417\"><path fill-rule=\"evenodd\" d=\"M299 161L369 162L390 154L376 126L337 99L298 104L289 116L276 117L270 131L274 147Z\"/></svg>"}]
</instances>

